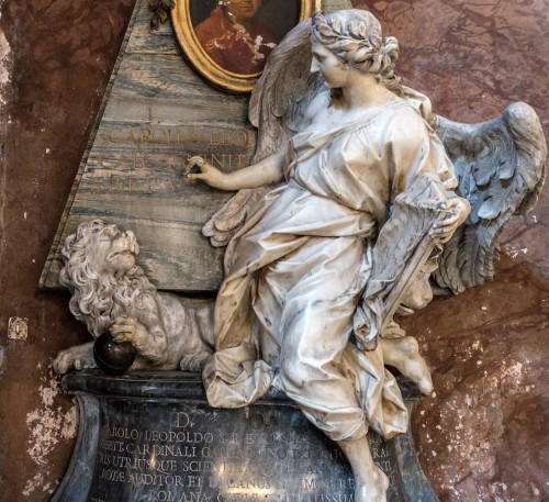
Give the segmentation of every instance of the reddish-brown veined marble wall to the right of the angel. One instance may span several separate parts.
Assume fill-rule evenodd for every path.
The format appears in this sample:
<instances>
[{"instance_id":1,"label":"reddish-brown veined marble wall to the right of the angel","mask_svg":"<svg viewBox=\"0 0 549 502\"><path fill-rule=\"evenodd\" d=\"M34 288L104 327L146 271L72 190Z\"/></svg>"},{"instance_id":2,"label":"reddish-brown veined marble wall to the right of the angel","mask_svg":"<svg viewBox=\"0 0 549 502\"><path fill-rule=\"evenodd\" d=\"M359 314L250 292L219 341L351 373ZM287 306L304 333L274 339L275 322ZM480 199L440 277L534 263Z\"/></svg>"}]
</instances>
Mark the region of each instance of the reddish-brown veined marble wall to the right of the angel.
<instances>
[{"instance_id":1,"label":"reddish-brown veined marble wall to the right of the angel","mask_svg":"<svg viewBox=\"0 0 549 502\"><path fill-rule=\"evenodd\" d=\"M549 3L544 0L354 1L399 38L404 83L436 113L482 122L513 101L549 137ZM549 500L549 190L502 237L495 280L407 320L435 394L414 437L441 501Z\"/></svg>"}]
</instances>

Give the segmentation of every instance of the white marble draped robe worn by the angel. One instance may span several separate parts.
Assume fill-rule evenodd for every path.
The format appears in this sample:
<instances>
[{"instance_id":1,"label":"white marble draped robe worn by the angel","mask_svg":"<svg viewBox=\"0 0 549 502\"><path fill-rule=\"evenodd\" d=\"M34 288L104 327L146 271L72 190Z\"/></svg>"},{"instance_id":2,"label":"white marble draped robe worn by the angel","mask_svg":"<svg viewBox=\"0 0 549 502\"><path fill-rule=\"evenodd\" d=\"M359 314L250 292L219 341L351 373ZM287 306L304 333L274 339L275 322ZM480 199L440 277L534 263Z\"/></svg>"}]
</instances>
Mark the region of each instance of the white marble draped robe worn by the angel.
<instances>
[{"instance_id":1,"label":"white marble draped robe worn by the angel","mask_svg":"<svg viewBox=\"0 0 549 502\"><path fill-rule=\"evenodd\" d=\"M258 202L226 250L216 352L203 371L213 406L247 405L274 386L335 440L368 426L384 437L405 432L381 345L358 348L352 317L394 198L423 172L455 185L414 104L397 99L290 142L287 182Z\"/></svg>"}]
</instances>

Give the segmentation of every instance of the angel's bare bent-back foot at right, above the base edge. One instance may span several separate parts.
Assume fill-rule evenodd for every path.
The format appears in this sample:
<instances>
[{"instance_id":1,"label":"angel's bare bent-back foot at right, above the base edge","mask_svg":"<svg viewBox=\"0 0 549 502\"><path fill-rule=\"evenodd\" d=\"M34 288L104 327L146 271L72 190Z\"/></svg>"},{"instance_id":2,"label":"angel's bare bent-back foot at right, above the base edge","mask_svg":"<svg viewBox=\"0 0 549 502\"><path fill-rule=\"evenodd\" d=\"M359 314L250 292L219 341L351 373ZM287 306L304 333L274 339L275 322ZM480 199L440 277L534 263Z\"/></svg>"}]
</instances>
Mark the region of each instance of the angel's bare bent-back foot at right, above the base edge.
<instances>
[{"instance_id":1,"label":"angel's bare bent-back foot at right, above the base edge","mask_svg":"<svg viewBox=\"0 0 549 502\"><path fill-rule=\"evenodd\" d=\"M381 338L385 365L394 366L402 375L417 383L424 394L433 392L433 380L425 359L419 355L417 342L412 336Z\"/></svg>"}]
</instances>

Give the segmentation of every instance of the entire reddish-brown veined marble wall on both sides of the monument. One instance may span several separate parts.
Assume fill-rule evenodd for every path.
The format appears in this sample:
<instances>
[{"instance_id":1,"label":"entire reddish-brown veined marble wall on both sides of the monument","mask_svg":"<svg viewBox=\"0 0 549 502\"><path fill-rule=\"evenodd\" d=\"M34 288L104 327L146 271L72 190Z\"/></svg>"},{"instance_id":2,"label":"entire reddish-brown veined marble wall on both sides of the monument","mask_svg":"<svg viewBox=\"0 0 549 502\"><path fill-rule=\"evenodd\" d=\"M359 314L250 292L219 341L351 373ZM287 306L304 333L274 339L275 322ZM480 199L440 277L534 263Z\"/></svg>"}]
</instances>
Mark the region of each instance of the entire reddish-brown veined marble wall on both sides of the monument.
<instances>
[{"instance_id":1,"label":"entire reddish-brown veined marble wall on both sides of the monument","mask_svg":"<svg viewBox=\"0 0 549 502\"><path fill-rule=\"evenodd\" d=\"M0 118L0 501L46 501L67 466L77 416L48 364L88 339L68 293L36 292L133 0L1 5L10 52ZM437 113L479 122L523 99L548 132L549 25L541 0L355 1L401 43L400 74ZM0 37L0 58L2 55ZM1 72L0 72L1 74ZM1 75L0 75L1 80ZM435 301L406 322L433 367L435 395L414 435L441 501L549 497L547 322L549 196L503 236L496 279ZM10 316L30 320L8 341ZM0 368L0 372L2 368Z\"/></svg>"}]
</instances>

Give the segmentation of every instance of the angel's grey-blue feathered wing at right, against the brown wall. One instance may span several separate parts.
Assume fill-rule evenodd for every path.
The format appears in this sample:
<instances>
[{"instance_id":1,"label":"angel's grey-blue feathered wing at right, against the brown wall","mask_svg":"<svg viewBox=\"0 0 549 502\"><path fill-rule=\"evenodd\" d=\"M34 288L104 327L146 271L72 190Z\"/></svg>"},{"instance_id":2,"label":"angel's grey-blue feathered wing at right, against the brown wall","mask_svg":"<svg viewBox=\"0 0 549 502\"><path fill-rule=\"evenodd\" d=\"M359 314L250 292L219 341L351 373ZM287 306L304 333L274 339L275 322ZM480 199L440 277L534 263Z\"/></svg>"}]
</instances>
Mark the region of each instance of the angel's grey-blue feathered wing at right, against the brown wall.
<instances>
[{"instance_id":1,"label":"angel's grey-blue feathered wing at right, against the brown wall","mask_svg":"<svg viewBox=\"0 0 549 502\"><path fill-rule=\"evenodd\" d=\"M482 124L435 115L433 126L453 161L458 194L471 203L468 221L445 246L433 275L440 287L459 293L493 278L503 226L536 204L547 146L536 112L523 102Z\"/></svg>"}]
</instances>

